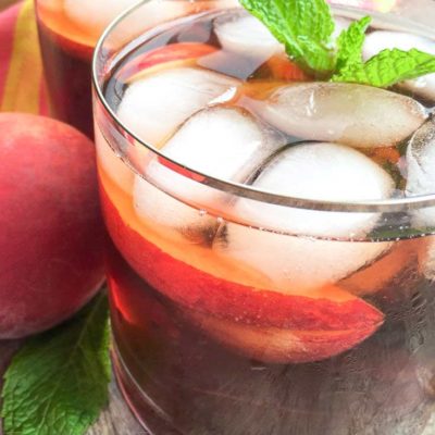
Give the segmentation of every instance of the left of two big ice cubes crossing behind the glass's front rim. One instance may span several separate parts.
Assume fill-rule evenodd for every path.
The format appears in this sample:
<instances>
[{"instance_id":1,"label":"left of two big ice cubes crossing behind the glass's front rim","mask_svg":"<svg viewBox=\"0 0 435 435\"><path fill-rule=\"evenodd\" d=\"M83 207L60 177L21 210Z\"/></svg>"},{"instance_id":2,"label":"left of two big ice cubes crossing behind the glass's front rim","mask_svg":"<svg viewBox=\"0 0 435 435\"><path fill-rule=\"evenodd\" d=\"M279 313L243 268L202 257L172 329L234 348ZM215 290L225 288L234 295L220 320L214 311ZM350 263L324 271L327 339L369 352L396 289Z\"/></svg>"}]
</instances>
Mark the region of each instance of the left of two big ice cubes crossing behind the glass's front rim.
<instances>
[{"instance_id":1,"label":"left of two big ice cubes crossing behind the glass's front rim","mask_svg":"<svg viewBox=\"0 0 435 435\"><path fill-rule=\"evenodd\" d=\"M163 148L182 165L234 182L247 179L262 162L284 145L284 138L259 124L241 109L214 107L191 116ZM216 209L225 196L175 172L159 160L145 167L134 188L136 213L189 239L203 238L216 220L200 213ZM169 194L169 195L167 195ZM196 206L188 207L182 201Z\"/></svg>"}]
</instances>

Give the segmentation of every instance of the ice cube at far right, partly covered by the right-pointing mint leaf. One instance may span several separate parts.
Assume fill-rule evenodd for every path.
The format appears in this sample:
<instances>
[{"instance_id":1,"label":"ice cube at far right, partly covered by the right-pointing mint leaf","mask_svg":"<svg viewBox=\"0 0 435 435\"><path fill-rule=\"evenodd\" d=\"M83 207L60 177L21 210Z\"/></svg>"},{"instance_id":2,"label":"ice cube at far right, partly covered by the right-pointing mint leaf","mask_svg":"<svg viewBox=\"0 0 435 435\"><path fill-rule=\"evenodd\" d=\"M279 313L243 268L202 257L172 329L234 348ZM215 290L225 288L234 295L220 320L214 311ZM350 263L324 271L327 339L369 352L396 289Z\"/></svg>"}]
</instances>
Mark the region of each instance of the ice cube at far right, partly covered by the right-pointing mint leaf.
<instances>
[{"instance_id":1,"label":"ice cube at far right, partly covered by the right-pointing mint leaf","mask_svg":"<svg viewBox=\"0 0 435 435\"><path fill-rule=\"evenodd\" d=\"M431 39L400 32L378 30L371 33L365 38L363 49L364 60L372 58L382 50L394 48L405 51L415 48L420 51L435 54L435 44ZM400 84L400 87L408 89L415 96L435 101L435 74L427 74L413 80L406 80Z\"/></svg>"}]
</instances>

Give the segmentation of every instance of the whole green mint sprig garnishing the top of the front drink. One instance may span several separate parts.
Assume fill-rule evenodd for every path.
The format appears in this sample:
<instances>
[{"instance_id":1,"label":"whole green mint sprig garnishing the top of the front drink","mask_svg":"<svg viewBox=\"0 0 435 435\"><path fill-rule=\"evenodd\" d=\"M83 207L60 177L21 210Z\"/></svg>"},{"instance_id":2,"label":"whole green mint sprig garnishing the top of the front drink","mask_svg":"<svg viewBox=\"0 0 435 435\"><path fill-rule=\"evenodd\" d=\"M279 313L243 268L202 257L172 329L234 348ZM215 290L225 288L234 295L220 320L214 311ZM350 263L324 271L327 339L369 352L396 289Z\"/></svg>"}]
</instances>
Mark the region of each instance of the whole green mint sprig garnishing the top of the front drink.
<instances>
[{"instance_id":1,"label":"whole green mint sprig garnishing the top of the front drink","mask_svg":"<svg viewBox=\"0 0 435 435\"><path fill-rule=\"evenodd\" d=\"M371 17L353 22L338 36L325 0L240 0L285 46L290 60L316 79L375 87L435 73L435 55L411 49L386 49L362 59Z\"/></svg>"}]
</instances>

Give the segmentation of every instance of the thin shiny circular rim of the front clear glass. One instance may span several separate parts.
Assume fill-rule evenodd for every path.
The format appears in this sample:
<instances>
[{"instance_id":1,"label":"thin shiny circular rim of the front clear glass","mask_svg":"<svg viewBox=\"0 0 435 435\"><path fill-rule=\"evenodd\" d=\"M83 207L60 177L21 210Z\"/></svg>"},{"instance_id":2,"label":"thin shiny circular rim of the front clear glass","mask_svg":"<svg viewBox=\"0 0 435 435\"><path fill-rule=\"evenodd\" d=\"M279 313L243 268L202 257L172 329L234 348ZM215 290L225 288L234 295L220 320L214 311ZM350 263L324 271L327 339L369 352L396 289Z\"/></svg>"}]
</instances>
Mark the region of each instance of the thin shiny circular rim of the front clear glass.
<instances>
[{"instance_id":1,"label":"thin shiny circular rim of the front clear glass","mask_svg":"<svg viewBox=\"0 0 435 435\"><path fill-rule=\"evenodd\" d=\"M139 8L141 8L142 5L147 4L150 1L156 1L156 0L139 0L136 4L122 12L120 15L116 16L116 18L114 18L110 23L110 25L104 29L104 32L98 39L91 62L91 69L92 69L91 80L92 80L94 92L96 92L98 101L102 103L104 110L114 121L116 126L121 127L122 132L126 133L126 135L130 139L133 139L135 144L144 146L159 158L162 158L164 161L170 162L174 167L177 167L181 171L183 171L184 175L188 176L191 179L195 179L197 183L204 184L212 188L216 188L221 191L241 196L244 198L253 199L261 202L286 206L297 209L308 209L308 210L319 210L319 211L330 211L330 212L396 213L396 212L407 212L409 210L417 210L427 207L435 207L435 192L428 195L406 197L406 198L388 198L383 200L364 200L364 201L331 201L331 200L321 200L321 199L318 200L318 199L298 198L298 197L281 195L269 190L258 189L250 185L235 183L202 173L200 171L195 170L195 167L189 167L185 164L177 162L176 160L173 160L164 156L164 153L162 153L158 148L141 140L133 130L130 130L127 126L124 125L124 123L117 117L116 113L112 110L109 102L107 101L98 79L99 75L98 61L99 61L99 53L102 51L104 42L110 37L110 35L115 30L117 25L122 23L124 20L126 20L130 14L135 13L136 10L138 10ZM174 0L167 0L167 1L174 1ZM207 1L207 0L200 0L200 1ZM356 11L359 10L358 8L355 7L353 8L334 7L334 8L353 9ZM378 13L378 12L372 12L372 14L377 16L384 16L384 13ZM428 27L426 28L428 32L430 28ZM432 33L433 30L431 32L431 34Z\"/></svg>"}]
</instances>

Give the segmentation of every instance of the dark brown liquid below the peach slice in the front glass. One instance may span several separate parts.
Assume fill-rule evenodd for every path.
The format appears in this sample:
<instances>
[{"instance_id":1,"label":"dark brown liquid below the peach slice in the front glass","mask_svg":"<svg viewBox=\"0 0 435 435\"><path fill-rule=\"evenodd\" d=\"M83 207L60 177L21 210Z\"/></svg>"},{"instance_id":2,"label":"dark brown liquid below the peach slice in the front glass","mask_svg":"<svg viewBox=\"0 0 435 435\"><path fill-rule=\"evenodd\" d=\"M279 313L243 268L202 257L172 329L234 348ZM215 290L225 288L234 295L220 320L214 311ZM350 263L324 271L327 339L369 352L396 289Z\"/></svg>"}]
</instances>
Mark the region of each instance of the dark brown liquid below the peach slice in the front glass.
<instances>
[{"instance_id":1,"label":"dark brown liquid below the peach slice in the front glass","mask_svg":"<svg viewBox=\"0 0 435 435\"><path fill-rule=\"evenodd\" d=\"M119 375L152 433L417 435L425 426L435 365L427 283L390 308L396 321L391 312L375 336L343 356L263 364L202 335L113 246L108 252Z\"/></svg>"}]
</instances>

